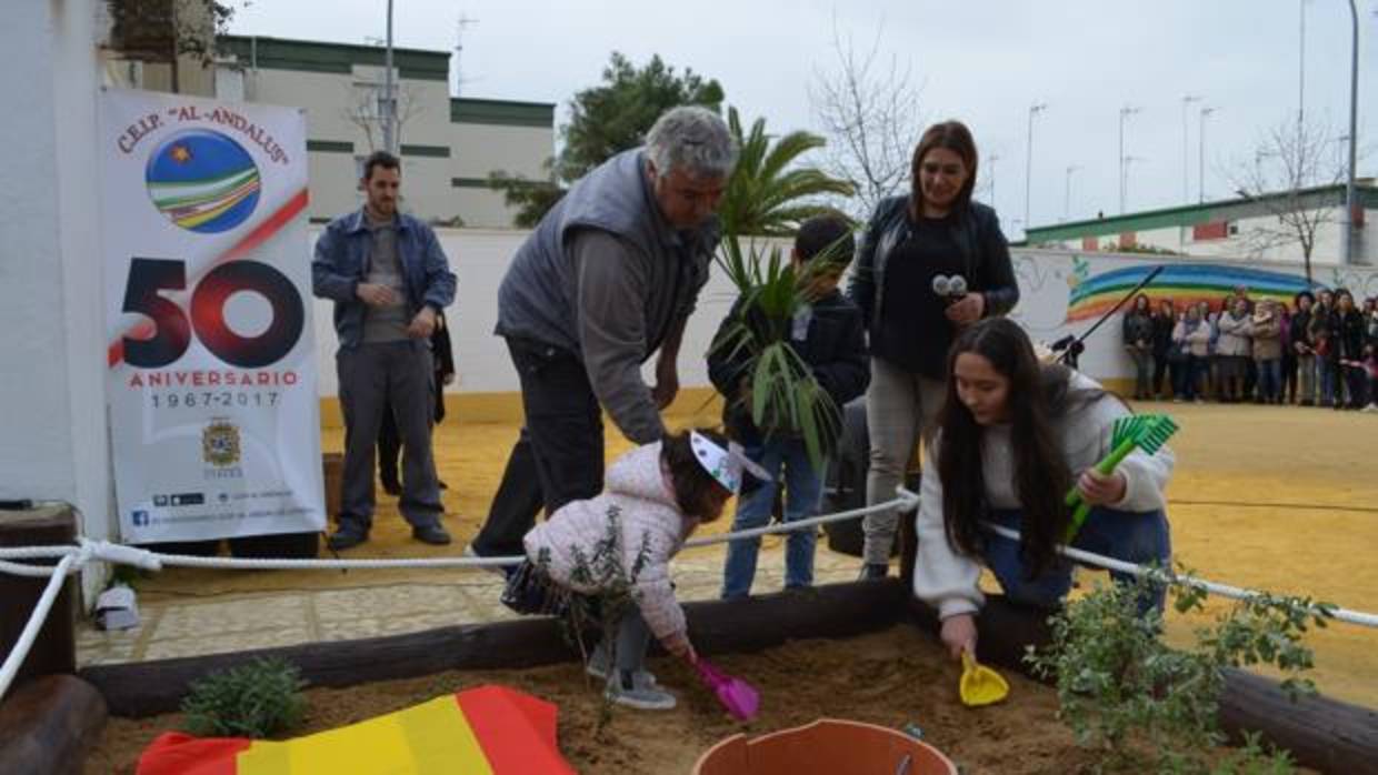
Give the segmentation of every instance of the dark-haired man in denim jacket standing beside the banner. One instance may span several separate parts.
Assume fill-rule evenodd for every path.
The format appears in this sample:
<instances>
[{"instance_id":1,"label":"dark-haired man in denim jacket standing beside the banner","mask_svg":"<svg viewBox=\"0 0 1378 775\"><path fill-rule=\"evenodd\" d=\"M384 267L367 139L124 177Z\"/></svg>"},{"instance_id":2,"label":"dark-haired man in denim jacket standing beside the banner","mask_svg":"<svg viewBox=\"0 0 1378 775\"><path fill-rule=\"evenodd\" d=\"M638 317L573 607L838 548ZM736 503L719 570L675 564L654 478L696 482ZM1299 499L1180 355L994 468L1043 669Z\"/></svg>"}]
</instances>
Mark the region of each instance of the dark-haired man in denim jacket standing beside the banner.
<instances>
[{"instance_id":1,"label":"dark-haired man in denim jacket standing beside the banner","mask_svg":"<svg viewBox=\"0 0 1378 775\"><path fill-rule=\"evenodd\" d=\"M335 301L335 354L344 412L344 475L332 549L368 540L373 522L373 450L383 413L402 439L402 500L412 535L449 544L440 524L440 480L431 456L430 336L435 315L455 300L455 274L435 233L397 212L401 165L378 151L364 162L368 201L325 227L316 242L311 282Z\"/></svg>"}]
</instances>

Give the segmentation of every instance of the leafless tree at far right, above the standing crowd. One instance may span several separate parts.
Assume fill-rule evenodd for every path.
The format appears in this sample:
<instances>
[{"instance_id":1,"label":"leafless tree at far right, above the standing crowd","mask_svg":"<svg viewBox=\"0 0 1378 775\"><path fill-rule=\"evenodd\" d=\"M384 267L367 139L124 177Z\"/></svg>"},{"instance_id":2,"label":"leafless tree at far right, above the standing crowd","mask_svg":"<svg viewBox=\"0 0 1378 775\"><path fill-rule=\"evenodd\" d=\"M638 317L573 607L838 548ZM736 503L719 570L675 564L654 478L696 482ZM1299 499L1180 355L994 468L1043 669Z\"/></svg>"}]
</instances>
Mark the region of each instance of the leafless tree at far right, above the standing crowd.
<instances>
[{"instance_id":1,"label":"leafless tree at far right, above the standing crowd","mask_svg":"<svg viewBox=\"0 0 1378 775\"><path fill-rule=\"evenodd\" d=\"M1345 164L1330 147L1334 142L1337 138L1324 124L1288 117L1264 132L1253 160L1237 164L1228 176L1235 193L1273 216L1240 235L1250 255L1295 245L1308 281L1316 237L1344 212L1342 197L1335 200L1331 191L1317 190L1345 179Z\"/></svg>"}]
</instances>

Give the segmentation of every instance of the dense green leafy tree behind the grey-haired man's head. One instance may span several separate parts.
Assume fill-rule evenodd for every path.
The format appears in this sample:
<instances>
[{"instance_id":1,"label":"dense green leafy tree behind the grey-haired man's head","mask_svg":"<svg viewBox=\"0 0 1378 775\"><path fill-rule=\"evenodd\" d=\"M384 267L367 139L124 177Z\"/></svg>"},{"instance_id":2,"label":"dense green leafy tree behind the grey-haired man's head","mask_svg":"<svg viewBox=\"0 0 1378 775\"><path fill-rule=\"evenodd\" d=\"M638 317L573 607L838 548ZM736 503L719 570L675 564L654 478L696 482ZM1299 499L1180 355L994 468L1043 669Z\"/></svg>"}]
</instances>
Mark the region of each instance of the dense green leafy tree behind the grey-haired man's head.
<instances>
[{"instance_id":1,"label":"dense green leafy tree behind the grey-haired man's head","mask_svg":"<svg viewBox=\"0 0 1378 775\"><path fill-rule=\"evenodd\" d=\"M533 182L499 171L489 175L489 182L517 208L518 226L535 226L575 180L617 153L642 145L656 118L678 105L718 112L722 87L688 67L678 73L659 55L637 67L613 51L602 83L569 100L570 120L559 129L559 156L547 164L550 179Z\"/></svg>"}]
</instances>

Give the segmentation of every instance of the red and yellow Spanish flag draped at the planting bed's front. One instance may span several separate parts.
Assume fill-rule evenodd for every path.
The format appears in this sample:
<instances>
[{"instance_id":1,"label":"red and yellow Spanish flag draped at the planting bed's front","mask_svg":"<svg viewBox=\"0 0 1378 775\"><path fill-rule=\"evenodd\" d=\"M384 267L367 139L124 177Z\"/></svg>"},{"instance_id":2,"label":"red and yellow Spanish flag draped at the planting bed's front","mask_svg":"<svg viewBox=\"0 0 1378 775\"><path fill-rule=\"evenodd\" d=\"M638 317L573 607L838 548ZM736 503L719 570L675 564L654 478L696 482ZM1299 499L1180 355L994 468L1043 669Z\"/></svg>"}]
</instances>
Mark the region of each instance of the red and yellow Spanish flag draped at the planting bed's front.
<instances>
[{"instance_id":1,"label":"red and yellow Spanish flag draped at the planting bed's front","mask_svg":"<svg viewBox=\"0 0 1378 775\"><path fill-rule=\"evenodd\" d=\"M284 742L164 732L136 775L573 775L555 706L485 686Z\"/></svg>"}]
</instances>

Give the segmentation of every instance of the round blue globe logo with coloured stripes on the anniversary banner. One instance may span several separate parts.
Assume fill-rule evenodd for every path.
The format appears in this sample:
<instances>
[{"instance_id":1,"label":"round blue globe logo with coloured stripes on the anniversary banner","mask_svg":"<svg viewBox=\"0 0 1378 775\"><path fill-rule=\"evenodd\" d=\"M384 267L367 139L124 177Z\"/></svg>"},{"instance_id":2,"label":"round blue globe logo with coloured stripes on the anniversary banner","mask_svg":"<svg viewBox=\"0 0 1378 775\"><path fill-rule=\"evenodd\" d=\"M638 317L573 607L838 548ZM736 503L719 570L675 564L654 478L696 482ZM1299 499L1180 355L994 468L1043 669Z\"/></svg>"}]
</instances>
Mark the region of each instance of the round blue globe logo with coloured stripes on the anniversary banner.
<instances>
[{"instance_id":1,"label":"round blue globe logo with coloured stripes on the anniversary banner","mask_svg":"<svg viewBox=\"0 0 1378 775\"><path fill-rule=\"evenodd\" d=\"M244 223L262 189L248 151L209 129L186 129L163 140L149 157L145 182L158 212L203 234Z\"/></svg>"}]
</instances>

